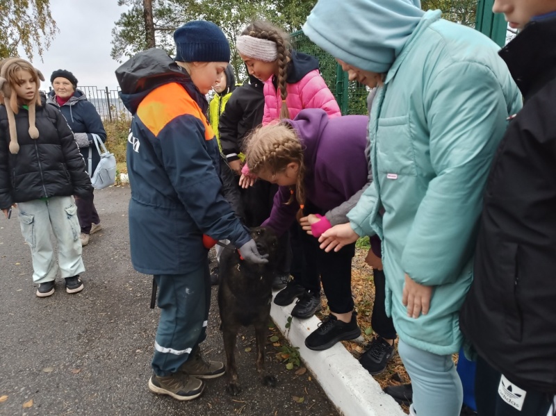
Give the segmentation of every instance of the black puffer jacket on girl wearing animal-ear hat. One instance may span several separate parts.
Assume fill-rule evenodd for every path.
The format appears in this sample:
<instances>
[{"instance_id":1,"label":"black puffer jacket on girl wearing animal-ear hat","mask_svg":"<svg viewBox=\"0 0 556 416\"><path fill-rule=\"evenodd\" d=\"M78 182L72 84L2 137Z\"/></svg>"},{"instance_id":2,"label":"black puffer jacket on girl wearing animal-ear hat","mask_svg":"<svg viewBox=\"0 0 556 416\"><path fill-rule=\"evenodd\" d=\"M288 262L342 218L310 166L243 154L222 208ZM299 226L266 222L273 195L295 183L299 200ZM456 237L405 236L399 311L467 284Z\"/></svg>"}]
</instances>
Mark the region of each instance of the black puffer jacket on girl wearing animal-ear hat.
<instances>
[{"instance_id":1,"label":"black puffer jacket on girl wearing animal-ear hat","mask_svg":"<svg viewBox=\"0 0 556 416\"><path fill-rule=\"evenodd\" d=\"M19 153L8 150L10 131L6 107L0 106L0 209L44 197L86 197L92 185L85 162L63 115L53 106L36 106L38 139L28 133L25 108L15 115Z\"/></svg>"}]
</instances>

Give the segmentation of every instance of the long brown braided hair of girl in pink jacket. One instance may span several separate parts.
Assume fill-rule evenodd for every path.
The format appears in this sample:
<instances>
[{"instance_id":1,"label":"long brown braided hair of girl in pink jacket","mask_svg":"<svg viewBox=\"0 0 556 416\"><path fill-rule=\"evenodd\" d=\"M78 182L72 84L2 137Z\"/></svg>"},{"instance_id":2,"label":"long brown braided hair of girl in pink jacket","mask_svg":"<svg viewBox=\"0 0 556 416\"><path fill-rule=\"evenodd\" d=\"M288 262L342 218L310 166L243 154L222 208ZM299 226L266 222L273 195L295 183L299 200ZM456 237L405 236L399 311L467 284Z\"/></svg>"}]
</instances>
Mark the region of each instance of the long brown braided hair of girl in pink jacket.
<instances>
[{"instance_id":1,"label":"long brown braided hair of girl in pink jacket","mask_svg":"<svg viewBox=\"0 0 556 416\"><path fill-rule=\"evenodd\" d=\"M286 78L288 78L288 63L291 60L291 42L288 34L266 20L255 20L251 22L241 35L252 36L253 38L271 40L277 47L278 76L277 85L280 90L282 105L280 108L280 118L290 118L288 106L286 106Z\"/></svg>"}]
</instances>

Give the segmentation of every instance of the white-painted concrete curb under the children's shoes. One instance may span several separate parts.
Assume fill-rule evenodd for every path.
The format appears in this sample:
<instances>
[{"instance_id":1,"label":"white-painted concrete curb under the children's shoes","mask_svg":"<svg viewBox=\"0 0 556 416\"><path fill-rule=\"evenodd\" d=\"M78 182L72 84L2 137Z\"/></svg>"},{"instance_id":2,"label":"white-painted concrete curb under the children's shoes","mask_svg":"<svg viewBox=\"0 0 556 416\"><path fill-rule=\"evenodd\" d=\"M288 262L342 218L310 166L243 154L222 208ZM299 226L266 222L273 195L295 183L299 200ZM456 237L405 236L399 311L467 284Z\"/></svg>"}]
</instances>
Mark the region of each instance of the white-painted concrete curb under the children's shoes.
<instances>
[{"instance_id":1,"label":"white-painted concrete curb under the children's shoes","mask_svg":"<svg viewBox=\"0 0 556 416\"><path fill-rule=\"evenodd\" d=\"M273 292L273 297L276 294L277 291ZM317 328L320 319L293 318L289 331L286 331L286 322L294 305L277 306L272 302L270 316L293 347L299 347L306 367L338 410L345 416L405 416L398 403L382 392L373 376L340 342L325 351L305 347L306 336Z\"/></svg>"}]
</instances>

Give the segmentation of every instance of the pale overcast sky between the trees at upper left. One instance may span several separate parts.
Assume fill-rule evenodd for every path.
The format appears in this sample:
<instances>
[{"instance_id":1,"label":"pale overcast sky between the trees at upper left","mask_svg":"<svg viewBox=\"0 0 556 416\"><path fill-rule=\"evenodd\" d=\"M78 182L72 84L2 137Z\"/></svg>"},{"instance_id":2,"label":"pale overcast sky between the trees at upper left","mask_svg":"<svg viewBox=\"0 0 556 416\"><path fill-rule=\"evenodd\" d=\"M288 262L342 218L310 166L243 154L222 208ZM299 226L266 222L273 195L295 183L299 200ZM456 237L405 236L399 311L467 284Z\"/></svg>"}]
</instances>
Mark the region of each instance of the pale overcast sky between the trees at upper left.
<instances>
[{"instance_id":1,"label":"pale overcast sky between the trees at upper left","mask_svg":"<svg viewBox=\"0 0 556 416\"><path fill-rule=\"evenodd\" d=\"M51 0L50 3L60 32L44 52L43 62L37 53L33 58L33 65L47 79L41 89L48 91L54 70L67 69L78 79L78 88L96 85L115 90L114 71L120 63L110 57L111 30L127 7L117 6L117 0Z\"/></svg>"}]
</instances>

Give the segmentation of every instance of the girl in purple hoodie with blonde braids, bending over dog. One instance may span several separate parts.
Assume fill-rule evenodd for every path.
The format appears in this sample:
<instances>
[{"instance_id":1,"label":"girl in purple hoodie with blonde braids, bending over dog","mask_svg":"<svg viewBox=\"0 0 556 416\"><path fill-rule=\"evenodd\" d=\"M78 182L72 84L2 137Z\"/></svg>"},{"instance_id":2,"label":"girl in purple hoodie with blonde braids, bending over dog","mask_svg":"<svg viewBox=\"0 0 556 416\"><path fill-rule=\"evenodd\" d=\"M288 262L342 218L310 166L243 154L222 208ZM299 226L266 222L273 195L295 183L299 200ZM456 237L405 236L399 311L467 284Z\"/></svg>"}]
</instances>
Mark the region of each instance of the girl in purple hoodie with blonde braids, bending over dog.
<instances>
[{"instance_id":1,"label":"girl in purple hoodie with blonde braids, bending over dog","mask_svg":"<svg viewBox=\"0 0 556 416\"><path fill-rule=\"evenodd\" d=\"M367 124L363 115L329 119L325 110L306 109L293 120L257 128L245 146L252 172L279 185L263 226L281 235L300 217L306 231L303 249L314 260L330 309L305 340L306 347L316 351L361 334L351 292L355 244L327 253L319 249L318 237L331 222L347 222L347 213L367 184Z\"/></svg>"}]
</instances>

